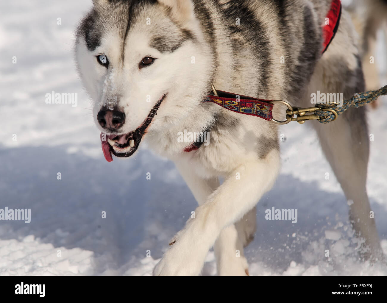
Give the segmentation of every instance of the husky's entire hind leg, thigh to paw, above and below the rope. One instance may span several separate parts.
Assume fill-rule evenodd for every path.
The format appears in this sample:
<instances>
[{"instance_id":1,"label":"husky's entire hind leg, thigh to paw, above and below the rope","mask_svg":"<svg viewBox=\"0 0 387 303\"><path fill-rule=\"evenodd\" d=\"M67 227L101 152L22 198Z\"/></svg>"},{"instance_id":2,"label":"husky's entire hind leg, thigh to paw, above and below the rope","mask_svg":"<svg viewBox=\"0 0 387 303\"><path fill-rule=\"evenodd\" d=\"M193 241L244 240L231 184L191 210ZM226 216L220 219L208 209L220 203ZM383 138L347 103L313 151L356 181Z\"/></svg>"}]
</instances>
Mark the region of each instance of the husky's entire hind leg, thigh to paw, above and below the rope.
<instances>
[{"instance_id":1,"label":"husky's entire hind leg, thigh to paw, above and below the rope","mask_svg":"<svg viewBox=\"0 0 387 303\"><path fill-rule=\"evenodd\" d=\"M311 106L310 94L318 91L333 95L342 93L342 100L348 100L355 93L365 90L355 41L349 15L343 10L339 30L316 65L303 105ZM370 140L365 108L349 108L336 121L327 124L317 121L310 124L317 131L322 150L349 201L348 204L351 204L351 224L358 238L365 241L360 252L373 259L381 257L375 219L370 218L371 207L366 193Z\"/></svg>"}]
</instances>

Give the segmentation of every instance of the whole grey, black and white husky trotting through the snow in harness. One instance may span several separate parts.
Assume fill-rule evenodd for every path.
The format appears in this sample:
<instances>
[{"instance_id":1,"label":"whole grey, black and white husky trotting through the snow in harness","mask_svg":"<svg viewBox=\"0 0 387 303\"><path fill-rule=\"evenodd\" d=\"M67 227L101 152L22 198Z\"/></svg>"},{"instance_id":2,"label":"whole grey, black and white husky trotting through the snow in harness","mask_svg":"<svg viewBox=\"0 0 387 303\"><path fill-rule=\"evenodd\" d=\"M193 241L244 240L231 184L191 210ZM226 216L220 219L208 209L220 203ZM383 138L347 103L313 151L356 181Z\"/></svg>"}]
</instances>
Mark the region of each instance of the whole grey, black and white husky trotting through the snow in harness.
<instances>
[{"instance_id":1,"label":"whole grey, black and white husky trotting through the snow in harness","mask_svg":"<svg viewBox=\"0 0 387 303\"><path fill-rule=\"evenodd\" d=\"M153 274L199 275L214 245L219 275L248 275L243 246L255 232L255 204L280 168L277 125L203 100L211 84L301 107L312 106L313 92L350 98L363 91L349 14L342 12L336 37L322 55L330 0L93 2L77 30L76 60L94 101L106 160L131 156L144 136L154 151L174 161L199 204ZM279 119L284 109L274 107ZM365 111L349 109L332 123L310 125L353 200L349 215L364 239L364 254L380 258L366 193ZM208 144L181 142L184 131L208 132Z\"/></svg>"}]
</instances>

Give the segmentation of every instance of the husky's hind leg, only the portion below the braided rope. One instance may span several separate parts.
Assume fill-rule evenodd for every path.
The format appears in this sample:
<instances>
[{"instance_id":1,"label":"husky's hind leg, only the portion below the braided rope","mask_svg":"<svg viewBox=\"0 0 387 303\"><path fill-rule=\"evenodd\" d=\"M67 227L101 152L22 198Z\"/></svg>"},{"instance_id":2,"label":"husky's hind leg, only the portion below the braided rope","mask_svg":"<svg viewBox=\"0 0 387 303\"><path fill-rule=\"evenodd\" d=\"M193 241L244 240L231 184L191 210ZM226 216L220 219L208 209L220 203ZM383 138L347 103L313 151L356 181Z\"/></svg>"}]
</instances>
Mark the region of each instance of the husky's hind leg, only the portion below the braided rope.
<instances>
[{"instance_id":1,"label":"husky's hind leg, only the portion below the braided rope","mask_svg":"<svg viewBox=\"0 0 387 303\"><path fill-rule=\"evenodd\" d=\"M350 202L349 217L356 235L364 238L365 257L381 256L375 219L370 218L371 207L366 193L369 154L368 131L364 108L350 108L328 124L314 123L322 150L337 180Z\"/></svg>"}]
</instances>

